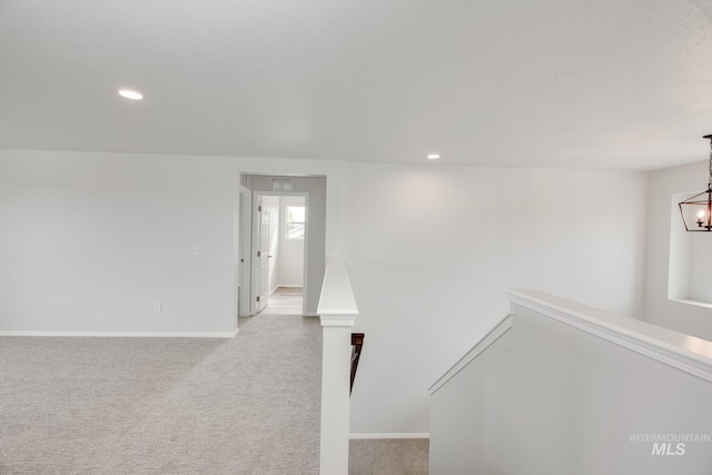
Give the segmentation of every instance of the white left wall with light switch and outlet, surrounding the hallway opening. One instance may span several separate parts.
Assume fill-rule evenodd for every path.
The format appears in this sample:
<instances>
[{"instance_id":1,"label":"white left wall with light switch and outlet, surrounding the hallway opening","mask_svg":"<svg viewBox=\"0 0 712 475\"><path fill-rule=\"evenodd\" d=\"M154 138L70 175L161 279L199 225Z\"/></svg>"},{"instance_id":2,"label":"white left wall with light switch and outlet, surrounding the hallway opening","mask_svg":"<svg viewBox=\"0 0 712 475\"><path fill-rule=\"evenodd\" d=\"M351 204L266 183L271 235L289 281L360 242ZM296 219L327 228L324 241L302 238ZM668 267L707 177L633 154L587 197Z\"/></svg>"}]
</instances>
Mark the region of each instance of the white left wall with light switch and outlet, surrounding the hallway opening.
<instances>
[{"instance_id":1,"label":"white left wall with light switch and outlet, surrounding the hallway opening","mask_svg":"<svg viewBox=\"0 0 712 475\"><path fill-rule=\"evenodd\" d=\"M0 150L0 331L231 334L240 172L328 178L318 300L324 249L340 248L340 164Z\"/></svg>"}]
</instances>

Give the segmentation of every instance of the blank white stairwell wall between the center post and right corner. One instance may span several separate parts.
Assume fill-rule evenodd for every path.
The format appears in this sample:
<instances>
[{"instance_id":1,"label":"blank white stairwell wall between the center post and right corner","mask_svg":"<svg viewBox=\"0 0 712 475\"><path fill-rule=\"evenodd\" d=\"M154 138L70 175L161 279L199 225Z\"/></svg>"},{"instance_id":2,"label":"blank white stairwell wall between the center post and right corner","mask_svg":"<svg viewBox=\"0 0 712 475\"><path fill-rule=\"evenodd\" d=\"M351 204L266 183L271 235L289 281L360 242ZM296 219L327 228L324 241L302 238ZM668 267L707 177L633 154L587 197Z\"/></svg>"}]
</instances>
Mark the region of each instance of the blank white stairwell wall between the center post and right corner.
<instances>
[{"instance_id":1,"label":"blank white stairwell wall between the center post and right corner","mask_svg":"<svg viewBox=\"0 0 712 475\"><path fill-rule=\"evenodd\" d=\"M644 172L344 167L364 353L352 433L426 433L427 387L532 287L640 316Z\"/></svg>"}]
</instances>

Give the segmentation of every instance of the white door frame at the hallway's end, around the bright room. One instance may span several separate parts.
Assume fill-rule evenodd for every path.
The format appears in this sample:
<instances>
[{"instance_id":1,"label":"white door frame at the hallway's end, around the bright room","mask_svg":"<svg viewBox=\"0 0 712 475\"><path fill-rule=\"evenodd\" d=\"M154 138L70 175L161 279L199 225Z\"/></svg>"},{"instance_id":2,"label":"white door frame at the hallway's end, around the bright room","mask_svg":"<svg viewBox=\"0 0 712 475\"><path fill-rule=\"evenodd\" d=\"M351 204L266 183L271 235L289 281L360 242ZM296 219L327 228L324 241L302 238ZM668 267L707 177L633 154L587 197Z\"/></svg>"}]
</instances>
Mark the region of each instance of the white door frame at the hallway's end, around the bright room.
<instances>
[{"instance_id":1,"label":"white door frame at the hallway's end, around the bright room","mask_svg":"<svg viewBox=\"0 0 712 475\"><path fill-rule=\"evenodd\" d=\"M250 281L250 290L249 290L249 308L250 308L250 315L256 315L257 314L257 294L259 291L259 259L257 259L257 248L259 247L259 214L256 212L257 208L257 204L259 202L259 198L263 196L278 196L278 197L283 197L283 196L300 196L304 197L304 207L305 207L305 226L304 226L304 241L303 241L303 246L304 246L304 263L303 263L303 268L301 268L301 315L306 315L307 311L307 299L306 299L306 295L307 295L307 285L308 285L308 279L307 279L307 269L308 269L308 261L309 261L309 256L308 256L308 249L309 246L307 245L308 239L309 239L309 192L308 191L271 191L271 190L250 190L251 191L251 219L250 219L250 260L251 260L251 265L249 266L250 269L250 276L249 276L249 281ZM279 232L281 234L283 229L281 229L281 212L279 214Z\"/></svg>"}]
</instances>

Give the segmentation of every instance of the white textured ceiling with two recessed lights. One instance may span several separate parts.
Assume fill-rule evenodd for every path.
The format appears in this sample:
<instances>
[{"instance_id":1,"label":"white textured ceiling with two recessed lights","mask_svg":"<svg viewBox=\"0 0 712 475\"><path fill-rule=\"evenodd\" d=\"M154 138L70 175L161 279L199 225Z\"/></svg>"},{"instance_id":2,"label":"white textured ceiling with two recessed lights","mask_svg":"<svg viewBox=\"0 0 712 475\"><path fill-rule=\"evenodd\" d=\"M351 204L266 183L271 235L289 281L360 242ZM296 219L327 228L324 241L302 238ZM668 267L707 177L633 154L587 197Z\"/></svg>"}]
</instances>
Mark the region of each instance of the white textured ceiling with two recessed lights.
<instances>
[{"instance_id":1,"label":"white textured ceiling with two recessed lights","mask_svg":"<svg viewBox=\"0 0 712 475\"><path fill-rule=\"evenodd\" d=\"M0 148L654 169L712 1L0 0Z\"/></svg>"}]
</instances>

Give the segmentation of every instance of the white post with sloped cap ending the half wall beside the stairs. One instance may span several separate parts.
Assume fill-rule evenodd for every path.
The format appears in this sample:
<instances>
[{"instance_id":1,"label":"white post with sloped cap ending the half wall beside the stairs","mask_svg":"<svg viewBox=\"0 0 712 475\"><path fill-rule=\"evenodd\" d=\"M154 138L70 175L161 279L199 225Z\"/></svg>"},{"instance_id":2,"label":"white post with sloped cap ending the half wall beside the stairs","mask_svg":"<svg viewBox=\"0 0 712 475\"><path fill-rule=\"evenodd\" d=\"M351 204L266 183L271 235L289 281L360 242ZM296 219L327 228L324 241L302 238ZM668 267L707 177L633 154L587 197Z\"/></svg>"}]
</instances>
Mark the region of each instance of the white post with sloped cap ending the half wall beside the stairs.
<instances>
[{"instance_id":1,"label":"white post with sloped cap ending the half wall beside the stairs","mask_svg":"<svg viewBox=\"0 0 712 475\"><path fill-rule=\"evenodd\" d=\"M352 327L358 307L344 261L330 257L322 298L322 475L348 474Z\"/></svg>"}]
</instances>

